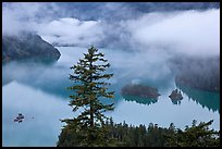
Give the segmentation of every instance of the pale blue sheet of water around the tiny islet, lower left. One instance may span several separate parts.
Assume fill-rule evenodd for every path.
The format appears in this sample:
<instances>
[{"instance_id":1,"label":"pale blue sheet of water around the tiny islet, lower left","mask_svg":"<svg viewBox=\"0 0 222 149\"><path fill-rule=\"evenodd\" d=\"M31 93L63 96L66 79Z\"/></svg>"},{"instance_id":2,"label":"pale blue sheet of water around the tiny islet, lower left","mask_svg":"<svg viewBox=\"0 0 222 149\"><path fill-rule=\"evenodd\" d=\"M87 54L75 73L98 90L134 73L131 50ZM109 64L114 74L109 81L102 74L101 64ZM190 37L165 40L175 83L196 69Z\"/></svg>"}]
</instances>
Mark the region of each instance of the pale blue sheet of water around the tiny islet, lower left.
<instances>
[{"instance_id":1,"label":"pale blue sheet of water around the tiny islet, lower left","mask_svg":"<svg viewBox=\"0 0 222 149\"><path fill-rule=\"evenodd\" d=\"M60 120L75 114L67 100L17 82L2 87L2 146L55 146L64 125ZM23 123L14 122L17 113L25 116Z\"/></svg>"}]
</instances>

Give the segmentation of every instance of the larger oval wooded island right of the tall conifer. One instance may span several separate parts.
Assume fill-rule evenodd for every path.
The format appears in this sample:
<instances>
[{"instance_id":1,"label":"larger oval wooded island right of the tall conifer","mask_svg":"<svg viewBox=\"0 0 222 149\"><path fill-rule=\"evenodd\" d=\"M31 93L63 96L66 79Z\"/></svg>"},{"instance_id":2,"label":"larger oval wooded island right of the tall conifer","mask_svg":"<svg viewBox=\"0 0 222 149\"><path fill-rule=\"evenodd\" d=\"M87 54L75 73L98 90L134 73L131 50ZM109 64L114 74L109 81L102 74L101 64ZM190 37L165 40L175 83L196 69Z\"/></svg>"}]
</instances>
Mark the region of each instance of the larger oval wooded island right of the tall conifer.
<instances>
[{"instance_id":1,"label":"larger oval wooded island right of the tall conifer","mask_svg":"<svg viewBox=\"0 0 222 149\"><path fill-rule=\"evenodd\" d=\"M160 96L157 88L143 85L125 85L121 91L122 95L138 96L140 98L157 99Z\"/></svg>"}]
</instances>

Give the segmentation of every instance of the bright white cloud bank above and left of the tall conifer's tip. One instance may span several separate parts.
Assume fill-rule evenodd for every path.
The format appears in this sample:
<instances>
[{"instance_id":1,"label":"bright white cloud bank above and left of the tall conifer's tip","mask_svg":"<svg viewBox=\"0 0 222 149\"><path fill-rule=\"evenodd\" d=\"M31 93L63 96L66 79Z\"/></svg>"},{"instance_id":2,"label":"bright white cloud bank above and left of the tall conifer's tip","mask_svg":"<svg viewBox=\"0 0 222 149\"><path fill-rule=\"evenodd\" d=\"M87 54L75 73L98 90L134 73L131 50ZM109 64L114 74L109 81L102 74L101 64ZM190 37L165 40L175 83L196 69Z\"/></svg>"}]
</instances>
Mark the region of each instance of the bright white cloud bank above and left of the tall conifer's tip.
<instances>
[{"instance_id":1,"label":"bright white cloud bank above and left of the tall conifer's tip","mask_svg":"<svg viewBox=\"0 0 222 149\"><path fill-rule=\"evenodd\" d=\"M60 45L89 46L103 39L100 21L79 21L73 17L45 24L38 33L45 40Z\"/></svg>"}]
</instances>

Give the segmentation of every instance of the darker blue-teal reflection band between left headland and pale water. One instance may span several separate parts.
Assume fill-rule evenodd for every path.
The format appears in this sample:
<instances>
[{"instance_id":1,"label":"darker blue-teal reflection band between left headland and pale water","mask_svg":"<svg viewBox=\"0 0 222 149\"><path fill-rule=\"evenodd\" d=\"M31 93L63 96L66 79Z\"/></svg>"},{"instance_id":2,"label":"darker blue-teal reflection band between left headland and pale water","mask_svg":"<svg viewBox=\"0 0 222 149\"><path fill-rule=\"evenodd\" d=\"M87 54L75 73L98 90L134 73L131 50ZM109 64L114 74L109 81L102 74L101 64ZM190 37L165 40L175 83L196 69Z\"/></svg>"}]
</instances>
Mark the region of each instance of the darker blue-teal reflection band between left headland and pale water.
<instances>
[{"instance_id":1,"label":"darker blue-teal reflection band between left headland and pale water","mask_svg":"<svg viewBox=\"0 0 222 149\"><path fill-rule=\"evenodd\" d=\"M16 73L12 73L12 70ZM2 65L2 86L15 80L45 92L67 98L71 92L66 89L71 86L69 71L69 66L13 61Z\"/></svg>"}]
</instances>

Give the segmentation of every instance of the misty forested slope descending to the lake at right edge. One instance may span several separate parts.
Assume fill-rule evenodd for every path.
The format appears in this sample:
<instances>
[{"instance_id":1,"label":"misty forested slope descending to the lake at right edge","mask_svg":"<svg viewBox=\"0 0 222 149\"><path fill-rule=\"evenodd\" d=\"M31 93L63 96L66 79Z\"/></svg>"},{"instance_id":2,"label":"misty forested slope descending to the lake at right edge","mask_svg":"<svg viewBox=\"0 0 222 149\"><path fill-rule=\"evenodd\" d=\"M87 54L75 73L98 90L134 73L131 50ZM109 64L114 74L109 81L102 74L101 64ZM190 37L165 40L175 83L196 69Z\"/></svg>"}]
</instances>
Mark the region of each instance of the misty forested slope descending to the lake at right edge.
<instances>
[{"instance_id":1,"label":"misty forested slope descending to the lake at right edge","mask_svg":"<svg viewBox=\"0 0 222 149\"><path fill-rule=\"evenodd\" d=\"M170 67L176 74L176 84L220 92L220 57L180 57Z\"/></svg>"}]
</instances>

